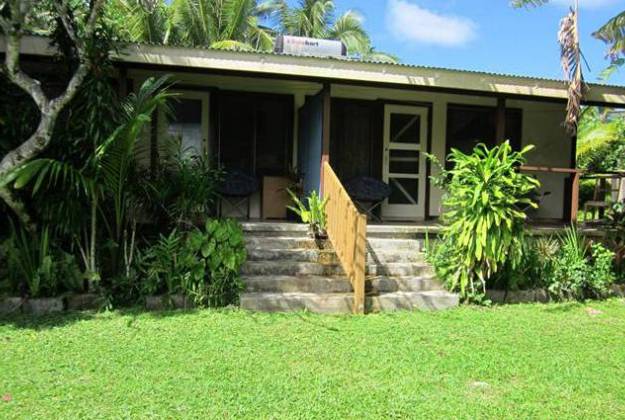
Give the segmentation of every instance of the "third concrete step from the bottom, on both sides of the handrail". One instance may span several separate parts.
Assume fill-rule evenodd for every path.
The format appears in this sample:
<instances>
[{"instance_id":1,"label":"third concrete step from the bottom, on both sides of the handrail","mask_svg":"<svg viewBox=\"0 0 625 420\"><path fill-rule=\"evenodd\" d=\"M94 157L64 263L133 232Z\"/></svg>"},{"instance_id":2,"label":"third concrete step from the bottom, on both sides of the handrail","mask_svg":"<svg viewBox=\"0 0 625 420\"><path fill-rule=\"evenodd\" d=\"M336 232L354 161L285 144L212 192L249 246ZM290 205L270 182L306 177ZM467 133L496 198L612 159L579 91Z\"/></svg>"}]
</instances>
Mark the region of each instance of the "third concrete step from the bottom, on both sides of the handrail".
<instances>
[{"instance_id":1,"label":"third concrete step from the bottom, on both sides of the handrail","mask_svg":"<svg viewBox=\"0 0 625 420\"><path fill-rule=\"evenodd\" d=\"M388 263L367 264L371 276L427 276L432 275L428 264ZM241 268L244 276L342 276L340 264L320 264L302 261L247 261Z\"/></svg>"}]
</instances>

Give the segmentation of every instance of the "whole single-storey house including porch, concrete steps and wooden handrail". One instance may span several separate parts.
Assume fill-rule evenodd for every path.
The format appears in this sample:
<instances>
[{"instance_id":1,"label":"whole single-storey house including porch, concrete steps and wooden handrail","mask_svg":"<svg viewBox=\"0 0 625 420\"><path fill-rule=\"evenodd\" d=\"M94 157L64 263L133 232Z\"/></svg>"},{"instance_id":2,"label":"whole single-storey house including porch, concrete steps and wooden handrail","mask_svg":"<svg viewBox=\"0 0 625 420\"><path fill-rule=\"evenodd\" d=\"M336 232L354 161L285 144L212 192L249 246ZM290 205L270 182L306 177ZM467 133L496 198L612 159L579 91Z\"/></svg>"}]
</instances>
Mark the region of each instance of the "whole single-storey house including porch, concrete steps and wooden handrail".
<instances>
[{"instance_id":1,"label":"whole single-storey house including porch, concrete steps and wooden handrail","mask_svg":"<svg viewBox=\"0 0 625 420\"><path fill-rule=\"evenodd\" d=\"M0 43L0 52L2 44ZM53 73L48 40L22 42L22 64ZM297 172L305 191L323 189L331 243L306 236L305 226L246 223L248 262L241 305L257 310L364 312L458 304L424 261L423 222L441 215L442 191L430 175L451 148L509 139L533 144L527 166L541 181L534 220L575 218L579 173L575 145L562 126L567 84L558 80L285 53L161 45L129 45L115 57L120 93L148 77L173 75L173 118L159 114L145 141L145 164L158 165L159 143L175 135L189 152L233 173L255 177L252 219L284 209ZM586 104L625 108L625 87L590 85ZM342 184L382 180L390 196L384 221L367 226ZM222 214L234 215L222 203Z\"/></svg>"}]
</instances>

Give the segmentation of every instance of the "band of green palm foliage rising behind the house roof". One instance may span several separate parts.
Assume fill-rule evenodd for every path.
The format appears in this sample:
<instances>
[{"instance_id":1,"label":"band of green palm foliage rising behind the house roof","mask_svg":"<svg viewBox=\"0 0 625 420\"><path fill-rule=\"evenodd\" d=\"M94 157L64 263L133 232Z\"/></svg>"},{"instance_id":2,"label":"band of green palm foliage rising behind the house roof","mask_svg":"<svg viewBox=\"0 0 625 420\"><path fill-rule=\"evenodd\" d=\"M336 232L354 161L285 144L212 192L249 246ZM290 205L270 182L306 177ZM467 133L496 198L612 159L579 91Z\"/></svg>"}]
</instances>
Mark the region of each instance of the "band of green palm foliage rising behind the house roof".
<instances>
[{"instance_id":1,"label":"band of green palm foliage rising behind the house roof","mask_svg":"<svg viewBox=\"0 0 625 420\"><path fill-rule=\"evenodd\" d=\"M397 62L376 51L354 10L335 16L331 0L111 0L106 16L119 37L134 42L271 51L276 34L341 40L349 54ZM267 26L267 23L270 27Z\"/></svg>"}]
</instances>

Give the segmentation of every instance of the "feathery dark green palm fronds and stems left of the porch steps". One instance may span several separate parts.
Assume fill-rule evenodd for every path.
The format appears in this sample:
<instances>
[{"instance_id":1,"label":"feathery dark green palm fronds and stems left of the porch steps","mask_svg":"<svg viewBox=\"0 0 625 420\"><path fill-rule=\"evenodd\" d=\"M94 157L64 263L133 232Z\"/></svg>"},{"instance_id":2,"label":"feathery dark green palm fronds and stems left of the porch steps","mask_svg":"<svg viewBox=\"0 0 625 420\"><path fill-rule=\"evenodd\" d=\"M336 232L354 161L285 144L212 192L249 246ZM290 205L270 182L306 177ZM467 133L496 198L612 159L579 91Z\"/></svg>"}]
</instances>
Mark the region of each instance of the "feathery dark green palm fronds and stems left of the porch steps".
<instances>
[{"instance_id":1,"label":"feathery dark green palm fronds and stems left of the porch steps","mask_svg":"<svg viewBox=\"0 0 625 420\"><path fill-rule=\"evenodd\" d=\"M165 107L171 97L166 89L168 80L167 76L149 78L136 94L130 94L118 109L119 124L106 137L94 139L97 142L92 145L91 153L83 159L73 163L35 159L10 174L14 188L29 186L36 199L43 200L49 193L62 192L64 200L55 201L58 207L49 212L49 216L53 216L50 221L62 226L62 232L84 238L78 241L78 246L91 280L101 278L95 255L98 234L104 235L102 242L112 244L102 248L110 251L110 270L106 274L116 276L123 270L128 271L129 264L121 262L131 257L126 252L122 255L122 251L126 249L132 254L132 246L127 243L132 234L128 235L128 231L134 230L137 213L131 199L130 180L136 173L141 134L153 112ZM68 197L71 200L67 200ZM68 205L82 212L80 223L73 217L65 217L74 213L67 211Z\"/></svg>"}]
</instances>

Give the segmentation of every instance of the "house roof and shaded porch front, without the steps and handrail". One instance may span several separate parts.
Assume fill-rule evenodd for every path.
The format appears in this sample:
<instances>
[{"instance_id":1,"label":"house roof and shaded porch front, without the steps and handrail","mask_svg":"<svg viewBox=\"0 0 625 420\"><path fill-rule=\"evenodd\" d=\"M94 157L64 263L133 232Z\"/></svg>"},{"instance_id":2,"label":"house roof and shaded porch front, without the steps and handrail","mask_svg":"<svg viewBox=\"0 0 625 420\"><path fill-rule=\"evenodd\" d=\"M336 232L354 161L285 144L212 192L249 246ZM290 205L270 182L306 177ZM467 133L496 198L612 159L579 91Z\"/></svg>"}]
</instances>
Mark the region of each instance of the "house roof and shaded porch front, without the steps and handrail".
<instances>
[{"instance_id":1,"label":"house roof and shaded porch front, without the steps and handrail","mask_svg":"<svg viewBox=\"0 0 625 420\"><path fill-rule=\"evenodd\" d=\"M49 56L47 40L23 40L24 62ZM565 132L567 86L558 80L473 71L160 45L130 45L116 57L119 85L130 91L150 76L172 74L180 100L175 121L161 115L152 146L177 133L186 147L261 179L297 168L306 190L319 188L320 163L342 181L382 179L392 188L385 220L419 221L441 212L431 185L452 147L504 138L533 144L529 166L547 192L535 217L570 217L575 140ZM589 105L625 106L625 87L590 85ZM152 159L157 158L152 153ZM261 192L251 200L262 214Z\"/></svg>"}]
</instances>

